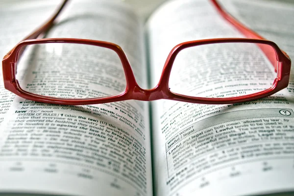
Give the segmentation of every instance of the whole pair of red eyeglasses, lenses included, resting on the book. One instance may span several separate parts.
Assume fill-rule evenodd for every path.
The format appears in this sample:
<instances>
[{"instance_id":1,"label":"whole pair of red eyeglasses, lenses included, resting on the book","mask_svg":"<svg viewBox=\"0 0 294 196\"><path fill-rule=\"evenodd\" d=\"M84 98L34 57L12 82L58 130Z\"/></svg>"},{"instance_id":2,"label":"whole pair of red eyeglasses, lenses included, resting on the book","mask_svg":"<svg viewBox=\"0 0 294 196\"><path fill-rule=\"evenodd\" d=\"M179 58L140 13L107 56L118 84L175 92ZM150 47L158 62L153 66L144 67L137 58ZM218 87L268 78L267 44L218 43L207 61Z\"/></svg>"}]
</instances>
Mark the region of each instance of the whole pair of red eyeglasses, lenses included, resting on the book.
<instances>
[{"instance_id":1,"label":"whole pair of red eyeglasses, lenses included, resting on the book","mask_svg":"<svg viewBox=\"0 0 294 196\"><path fill-rule=\"evenodd\" d=\"M286 88L290 57L275 43L241 25L216 0L211 1L248 39L178 44L171 50L153 89L142 89L137 84L123 49L116 44L86 39L36 39L49 30L67 0L45 25L4 56L4 86L22 98L69 105L128 99L226 104L268 97Z\"/></svg>"}]
</instances>

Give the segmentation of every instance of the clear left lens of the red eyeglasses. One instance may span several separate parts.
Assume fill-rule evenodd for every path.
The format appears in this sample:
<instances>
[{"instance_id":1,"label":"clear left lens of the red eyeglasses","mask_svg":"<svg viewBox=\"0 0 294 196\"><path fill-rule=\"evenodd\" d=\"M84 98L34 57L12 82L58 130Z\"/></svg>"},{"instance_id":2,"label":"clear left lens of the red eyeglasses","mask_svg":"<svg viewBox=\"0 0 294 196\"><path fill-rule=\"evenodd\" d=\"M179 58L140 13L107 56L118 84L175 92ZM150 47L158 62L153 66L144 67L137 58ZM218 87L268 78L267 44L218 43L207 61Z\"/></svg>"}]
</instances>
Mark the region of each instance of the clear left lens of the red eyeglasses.
<instances>
[{"instance_id":1,"label":"clear left lens of the red eyeglasses","mask_svg":"<svg viewBox=\"0 0 294 196\"><path fill-rule=\"evenodd\" d=\"M53 98L100 98L126 88L122 62L108 48L84 44L29 45L17 62L20 87Z\"/></svg>"}]
</instances>

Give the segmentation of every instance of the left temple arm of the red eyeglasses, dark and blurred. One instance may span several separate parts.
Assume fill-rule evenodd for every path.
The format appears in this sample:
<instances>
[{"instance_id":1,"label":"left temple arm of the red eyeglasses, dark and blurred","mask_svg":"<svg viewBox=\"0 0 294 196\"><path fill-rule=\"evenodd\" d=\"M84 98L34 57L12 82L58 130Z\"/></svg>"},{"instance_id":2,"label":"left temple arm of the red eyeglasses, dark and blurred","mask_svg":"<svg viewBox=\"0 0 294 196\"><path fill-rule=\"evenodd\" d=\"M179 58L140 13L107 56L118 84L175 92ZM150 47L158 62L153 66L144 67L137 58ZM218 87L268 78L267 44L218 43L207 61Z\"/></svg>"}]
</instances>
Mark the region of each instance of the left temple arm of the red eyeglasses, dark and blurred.
<instances>
[{"instance_id":1,"label":"left temple arm of the red eyeglasses, dark and blurred","mask_svg":"<svg viewBox=\"0 0 294 196\"><path fill-rule=\"evenodd\" d=\"M25 40L30 40L30 39L36 39L40 34L46 32L47 30L49 30L49 28L53 25L54 20L57 18L57 16L60 14L60 12L62 11L62 9L65 7L66 3L69 0L64 0L59 6L58 8L55 10L54 14L43 24L41 25L39 28L37 28L36 30L34 30L31 34L29 34L28 36L25 37L25 39L23 39L22 41ZM6 55L11 54L11 52L15 49L15 47L13 49L11 49ZM22 56L24 52L24 49L22 51L20 51L18 53L18 59ZM4 57L5 58L5 57Z\"/></svg>"}]
</instances>

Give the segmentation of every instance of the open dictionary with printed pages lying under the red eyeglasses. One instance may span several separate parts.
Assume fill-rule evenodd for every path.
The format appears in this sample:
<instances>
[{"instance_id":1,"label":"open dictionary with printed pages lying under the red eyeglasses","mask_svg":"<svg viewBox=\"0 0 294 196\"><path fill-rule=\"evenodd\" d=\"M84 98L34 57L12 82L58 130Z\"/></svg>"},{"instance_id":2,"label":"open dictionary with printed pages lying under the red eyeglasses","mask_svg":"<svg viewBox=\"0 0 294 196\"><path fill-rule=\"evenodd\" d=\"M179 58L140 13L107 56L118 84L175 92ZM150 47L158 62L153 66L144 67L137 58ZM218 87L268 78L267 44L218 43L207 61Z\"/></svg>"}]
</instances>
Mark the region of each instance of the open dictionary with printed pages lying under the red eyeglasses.
<instances>
[{"instance_id":1,"label":"open dictionary with printed pages lying under the red eyeglasses","mask_svg":"<svg viewBox=\"0 0 294 196\"><path fill-rule=\"evenodd\" d=\"M293 58L294 5L266 2L221 1L235 18ZM57 4L3 1L0 54L42 24ZM157 84L175 45L244 35L208 0L166 2L146 24L121 2L73 0L46 37L121 46L138 83L147 89ZM293 191L294 79L268 98L224 105L171 100L57 105L17 97L0 83L0 195L231 196Z\"/></svg>"}]
</instances>

